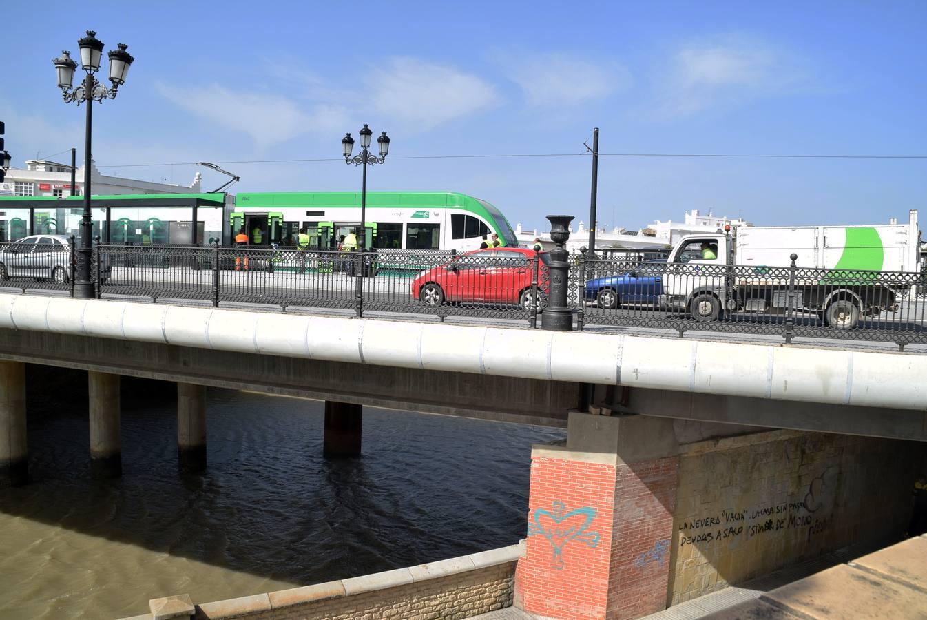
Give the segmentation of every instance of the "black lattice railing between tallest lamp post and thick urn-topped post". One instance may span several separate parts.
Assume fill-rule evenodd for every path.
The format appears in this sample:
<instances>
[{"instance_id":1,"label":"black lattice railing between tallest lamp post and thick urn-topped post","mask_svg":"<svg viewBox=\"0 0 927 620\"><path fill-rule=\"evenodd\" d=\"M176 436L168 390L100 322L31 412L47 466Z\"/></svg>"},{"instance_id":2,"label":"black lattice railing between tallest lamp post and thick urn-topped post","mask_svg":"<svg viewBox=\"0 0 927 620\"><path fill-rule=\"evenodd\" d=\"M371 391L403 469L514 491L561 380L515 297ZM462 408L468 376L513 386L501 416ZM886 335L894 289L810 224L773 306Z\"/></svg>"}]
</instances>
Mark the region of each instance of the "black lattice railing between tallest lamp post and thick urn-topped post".
<instances>
[{"instance_id":1,"label":"black lattice railing between tallest lamp post and thick urn-topped post","mask_svg":"<svg viewBox=\"0 0 927 620\"><path fill-rule=\"evenodd\" d=\"M527 319L532 302L543 305L546 295L546 281L532 279L538 259L516 252L108 245L98 252L111 265L105 294L209 299L217 307L351 310L360 291L365 310Z\"/></svg>"}]
</instances>

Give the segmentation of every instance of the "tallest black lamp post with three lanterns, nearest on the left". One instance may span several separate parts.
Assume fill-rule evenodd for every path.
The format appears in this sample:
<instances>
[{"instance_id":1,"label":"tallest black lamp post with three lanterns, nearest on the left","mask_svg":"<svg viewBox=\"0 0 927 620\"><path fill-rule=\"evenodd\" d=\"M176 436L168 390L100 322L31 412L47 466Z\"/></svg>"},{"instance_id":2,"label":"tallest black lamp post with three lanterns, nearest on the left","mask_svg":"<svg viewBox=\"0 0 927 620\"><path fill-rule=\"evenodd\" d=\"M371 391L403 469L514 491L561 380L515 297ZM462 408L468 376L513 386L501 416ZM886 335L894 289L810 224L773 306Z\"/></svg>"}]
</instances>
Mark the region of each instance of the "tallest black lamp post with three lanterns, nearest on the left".
<instances>
[{"instance_id":1,"label":"tallest black lamp post with three lanterns, nearest on the left","mask_svg":"<svg viewBox=\"0 0 927 620\"><path fill-rule=\"evenodd\" d=\"M109 82L112 86L107 88L100 83L95 73L100 69L100 56L103 54L103 42L96 38L96 32L87 31L87 36L82 37L77 42L81 48L81 69L86 72L83 83L71 90L74 80L74 70L77 69L77 63L71 59L70 52L61 52L61 56L55 58L55 69L57 70L58 88L64 96L65 103L87 104L87 123L84 133L83 148L83 215L81 217L81 245L78 247L74 257L76 262L76 273L74 274L74 297L94 298L96 297L94 283L91 281L90 263L93 259L93 219L90 209L90 160L91 160L91 127L93 121L94 101L103 103L104 99L115 99L119 87L125 83L125 76L129 72L129 66L132 65L134 58L125 51L126 45L119 44L119 49L110 50L109 57ZM71 187L71 194L74 188Z\"/></svg>"}]
</instances>

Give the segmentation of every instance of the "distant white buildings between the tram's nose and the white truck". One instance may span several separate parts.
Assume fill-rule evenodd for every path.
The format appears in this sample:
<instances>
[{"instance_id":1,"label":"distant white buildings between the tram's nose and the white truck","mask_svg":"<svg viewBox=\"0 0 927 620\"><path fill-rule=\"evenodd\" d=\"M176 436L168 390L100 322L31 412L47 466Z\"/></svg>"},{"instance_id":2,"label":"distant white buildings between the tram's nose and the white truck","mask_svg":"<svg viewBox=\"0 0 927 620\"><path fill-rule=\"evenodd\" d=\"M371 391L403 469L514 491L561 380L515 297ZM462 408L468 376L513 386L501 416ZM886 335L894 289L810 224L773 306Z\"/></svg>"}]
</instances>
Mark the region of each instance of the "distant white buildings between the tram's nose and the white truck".
<instances>
[{"instance_id":1,"label":"distant white buildings between the tram's nose and the white truck","mask_svg":"<svg viewBox=\"0 0 927 620\"><path fill-rule=\"evenodd\" d=\"M717 217L712 215L711 212L707 215L700 215L698 209L692 209L692 211L686 211L683 221L657 220L636 231L629 231L626 228L614 228L607 231L604 228L598 228L595 232L595 247L597 249L609 247L635 249L670 247L685 234L714 233L718 228L723 228L724 224L735 227L749 225L749 222L743 221L741 218L732 220L726 217ZM566 242L566 249L570 252L589 245L589 229L583 221L578 222L576 230L571 225L570 233L570 239ZM550 229L529 231L523 229L521 223L519 223L515 226L515 236L518 237L518 245L521 247L531 247L536 237L540 237L544 247L552 246Z\"/></svg>"}]
</instances>

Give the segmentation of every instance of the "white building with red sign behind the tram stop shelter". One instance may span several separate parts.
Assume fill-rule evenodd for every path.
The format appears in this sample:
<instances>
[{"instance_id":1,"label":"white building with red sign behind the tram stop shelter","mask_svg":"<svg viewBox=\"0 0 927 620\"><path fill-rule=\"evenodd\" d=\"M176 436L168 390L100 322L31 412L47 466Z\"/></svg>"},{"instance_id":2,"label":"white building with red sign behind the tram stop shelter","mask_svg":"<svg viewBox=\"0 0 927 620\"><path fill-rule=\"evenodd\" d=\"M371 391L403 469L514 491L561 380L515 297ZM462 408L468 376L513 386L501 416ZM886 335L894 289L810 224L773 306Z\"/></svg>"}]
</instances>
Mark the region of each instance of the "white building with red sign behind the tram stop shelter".
<instances>
[{"instance_id":1,"label":"white building with red sign behind the tram stop shelter","mask_svg":"<svg viewBox=\"0 0 927 620\"><path fill-rule=\"evenodd\" d=\"M0 183L0 196L68 196L83 195L83 166L75 174L76 189L70 186L70 165L49 159L26 159L26 168L10 168L6 181ZM173 183L152 183L137 179L100 174L96 166L90 165L91 191L95 196L123 194L198 194L200 174L193 177L189 185Z\"/></svg>"}]
</instances>

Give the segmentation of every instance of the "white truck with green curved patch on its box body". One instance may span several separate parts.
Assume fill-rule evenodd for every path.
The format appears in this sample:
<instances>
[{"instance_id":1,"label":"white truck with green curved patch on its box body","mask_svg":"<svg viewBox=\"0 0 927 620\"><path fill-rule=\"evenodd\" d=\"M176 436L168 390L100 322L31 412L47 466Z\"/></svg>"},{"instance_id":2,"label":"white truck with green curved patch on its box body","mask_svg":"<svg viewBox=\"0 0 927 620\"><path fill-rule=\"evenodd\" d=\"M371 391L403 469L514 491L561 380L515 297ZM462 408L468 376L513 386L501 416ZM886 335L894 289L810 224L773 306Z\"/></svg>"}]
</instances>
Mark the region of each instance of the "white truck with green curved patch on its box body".
<instances>
[{"instance_id":1,"label":"white truck with green curved patch on its box body","mask_svg":"<svg viewBox=\"0 0 927 620\"><path fill-rule=\"evenodd\" d=\"M773 314L790 304L824 323L852 329L863 316L897 309L919 272L918 212L873 226L739 226L688 234L667 257L659 304L696 321L726 312ZM798 267L790 287L792 255ZM832 270L853 270L834 272Z\"/></svg>"}]
</instances>

